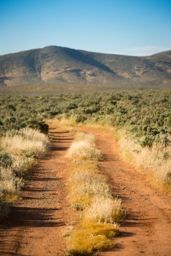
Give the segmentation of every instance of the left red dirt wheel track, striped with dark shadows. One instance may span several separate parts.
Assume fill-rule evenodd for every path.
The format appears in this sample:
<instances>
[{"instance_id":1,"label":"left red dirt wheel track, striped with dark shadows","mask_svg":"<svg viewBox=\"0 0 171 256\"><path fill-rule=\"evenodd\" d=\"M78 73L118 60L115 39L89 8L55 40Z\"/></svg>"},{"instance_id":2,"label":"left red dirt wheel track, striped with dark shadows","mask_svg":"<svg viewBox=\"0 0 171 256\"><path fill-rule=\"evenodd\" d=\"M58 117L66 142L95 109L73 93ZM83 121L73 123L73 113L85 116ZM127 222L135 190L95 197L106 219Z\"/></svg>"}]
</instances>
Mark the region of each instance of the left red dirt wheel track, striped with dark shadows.
<instances>
[{"instance_id":1,"label":"left red dirt wheel track, striped with dark shadows","mask_svg":"<svg viewBox=\"0 0 171 256\"><path fill-rule=\"evenodd\" d=\"M0 255L65 254L66 240L61 230L73 217L67 200L70 161L65 155L73 135L50 132L54 136L51 151L26 178L23 200L15 202L9 218L1 222Z\"/></svg>"}]
</instances>

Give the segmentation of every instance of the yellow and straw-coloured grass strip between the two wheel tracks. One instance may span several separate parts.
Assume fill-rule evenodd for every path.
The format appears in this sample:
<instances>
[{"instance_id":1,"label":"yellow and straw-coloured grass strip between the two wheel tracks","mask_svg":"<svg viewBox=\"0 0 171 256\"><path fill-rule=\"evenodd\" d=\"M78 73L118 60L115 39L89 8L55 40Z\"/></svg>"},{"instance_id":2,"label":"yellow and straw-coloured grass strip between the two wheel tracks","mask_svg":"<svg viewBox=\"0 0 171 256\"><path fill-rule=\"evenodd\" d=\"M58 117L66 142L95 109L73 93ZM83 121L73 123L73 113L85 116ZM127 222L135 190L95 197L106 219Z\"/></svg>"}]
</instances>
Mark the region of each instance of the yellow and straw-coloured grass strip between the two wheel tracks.
<instances>
[{"instance_id":1,"label":"yellow and straw-coloured grass strip between the two wheel tracks","mask_svg":"<svg viewBox=\"0 0 171 256\"><path fill-rule=\"evenodd\" d=\"M114 198L106 178L99 173L101 152L92 134L77 133L68 157L72 159L69 172L70 202L81 211L74 229L66 228L69 255L91 255L95 251L114 248L111 240L118 233L122 220L121 200Z\"/></svg>"}]
</instances>

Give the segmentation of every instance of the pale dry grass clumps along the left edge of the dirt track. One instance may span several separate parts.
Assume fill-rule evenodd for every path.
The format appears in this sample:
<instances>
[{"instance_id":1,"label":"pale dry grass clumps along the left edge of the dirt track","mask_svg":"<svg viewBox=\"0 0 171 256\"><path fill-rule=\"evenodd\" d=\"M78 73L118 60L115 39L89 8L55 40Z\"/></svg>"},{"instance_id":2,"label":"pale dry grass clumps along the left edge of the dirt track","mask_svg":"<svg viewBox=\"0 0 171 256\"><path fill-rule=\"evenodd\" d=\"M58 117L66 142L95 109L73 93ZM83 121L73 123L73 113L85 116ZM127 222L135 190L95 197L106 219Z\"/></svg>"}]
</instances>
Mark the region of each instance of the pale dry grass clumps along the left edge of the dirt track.
<instances>
[{"instance_id":1,"label":"pale dry grass clumps along the left edge of the dirt track","mask_svg":"<svg viewBox=\"0 0 171 256\"><path fill-rule=\"evenodd\" d=\"M19 198L18 191L24 184L22 176L37 163L49 148L49 139L33 129L8 132L0 139L1 153L6 154L0 161L0 215L8 212L8 203ZM5 157L5 155L4 155ZM10 161L9 161L10 158ZM7 162L5 162L7 161Z\"/></svg>"}]
</instances>

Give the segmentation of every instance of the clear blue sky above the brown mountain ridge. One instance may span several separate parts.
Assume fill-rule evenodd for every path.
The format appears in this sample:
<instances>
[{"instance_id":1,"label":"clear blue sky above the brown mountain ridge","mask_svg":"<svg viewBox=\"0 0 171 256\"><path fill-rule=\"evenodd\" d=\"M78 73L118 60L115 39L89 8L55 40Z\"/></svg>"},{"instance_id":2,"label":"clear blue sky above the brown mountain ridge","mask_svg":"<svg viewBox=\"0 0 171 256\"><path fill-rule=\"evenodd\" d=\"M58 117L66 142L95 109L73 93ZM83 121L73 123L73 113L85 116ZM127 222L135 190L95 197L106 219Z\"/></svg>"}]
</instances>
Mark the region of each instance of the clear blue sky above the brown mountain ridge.
<instances>
[{"instance_id":1,"label":"clear blue sky above the brown mountain ridge","mask_svg":"<svg viewBox=\"0 0 171 256\"><path fill-rule=\"evenodd\" d=\"M171 0L0 0L0 55L50 45L135 56L171 50Z\"/></svg>"}]
</instances>

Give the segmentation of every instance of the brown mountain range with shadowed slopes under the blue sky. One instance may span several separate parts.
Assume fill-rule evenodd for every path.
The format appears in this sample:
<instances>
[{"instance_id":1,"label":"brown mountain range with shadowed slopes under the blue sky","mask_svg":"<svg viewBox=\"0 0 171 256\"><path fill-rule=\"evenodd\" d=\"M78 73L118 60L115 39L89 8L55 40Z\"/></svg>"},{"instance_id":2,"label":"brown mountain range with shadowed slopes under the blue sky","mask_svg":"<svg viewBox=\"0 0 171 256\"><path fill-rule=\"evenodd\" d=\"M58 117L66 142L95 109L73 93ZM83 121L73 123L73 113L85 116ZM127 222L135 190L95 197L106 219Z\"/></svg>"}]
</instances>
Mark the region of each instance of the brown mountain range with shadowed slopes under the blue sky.
<instances>
[{"instance_id":1,"label":"brown mountain range with shadowed slopes under the blue sky","mask_svg":"<svg viewBox=\"0 0 171 256\"><path fill-rule=\"evenodd\" d=\"M171 51L147 57L57 46L0 56L0 86L147 84L170 86Z\"/></svg>"}]
</instances>

